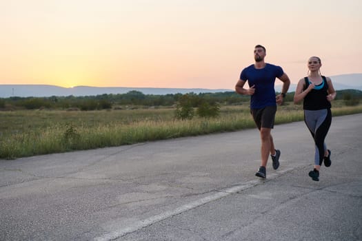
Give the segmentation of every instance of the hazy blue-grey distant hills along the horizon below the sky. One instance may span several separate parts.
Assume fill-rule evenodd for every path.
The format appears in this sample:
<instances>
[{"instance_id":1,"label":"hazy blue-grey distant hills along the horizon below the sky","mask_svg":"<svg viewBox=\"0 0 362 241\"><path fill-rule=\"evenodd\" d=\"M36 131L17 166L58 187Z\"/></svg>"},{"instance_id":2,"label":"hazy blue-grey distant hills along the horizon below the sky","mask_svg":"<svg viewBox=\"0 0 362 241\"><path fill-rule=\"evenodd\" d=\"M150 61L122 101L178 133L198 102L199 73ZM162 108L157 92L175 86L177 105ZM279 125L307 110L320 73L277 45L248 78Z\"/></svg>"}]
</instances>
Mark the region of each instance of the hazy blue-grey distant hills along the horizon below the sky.
<instances>
[{"instance_id":1,"label":"hazy blue-grey distant hills along the horizon below the sky","mask_svg":"<svg viewBox=\"0 0 362 241\"><path fill-rule=\"evenodd\" d=\"M362 90L362 74L343 74L330 76L336 90ZM279 81L280 82L280 81ZM296 85L291 85L289 92L294 92ZM142 87L90 87L77 86L72 88L55 85L0 85L0 98L19 97L49 97L49 96L97 96L101 94L125 94L132 90L143 94L186 94L186 93L217 93L234 92L233 89L182 89L182 88L142 88ZM281 92L281 85L275 86L276 92Z\"/></svg>"}]
</instances>

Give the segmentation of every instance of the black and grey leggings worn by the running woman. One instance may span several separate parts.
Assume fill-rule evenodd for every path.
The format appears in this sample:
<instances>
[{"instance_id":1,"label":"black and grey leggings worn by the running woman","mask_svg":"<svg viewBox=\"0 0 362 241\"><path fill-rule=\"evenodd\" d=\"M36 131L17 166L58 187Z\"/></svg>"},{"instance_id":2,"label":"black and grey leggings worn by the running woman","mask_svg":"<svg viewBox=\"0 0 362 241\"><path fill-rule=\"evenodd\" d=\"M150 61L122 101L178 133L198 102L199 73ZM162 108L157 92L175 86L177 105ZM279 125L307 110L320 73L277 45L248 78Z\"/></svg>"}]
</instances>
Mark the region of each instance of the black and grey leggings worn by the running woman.
<instances>
[{"instance_id":1,"label":"black and grey leggings worn by the running woman","mask_svg":"<svg viewBox=\"0 0 362 241\"><path fill-rule=\"evenodd\" d=\"M332 123L332 112L330 109L305 109L304 122L314 139L316 148L314 154L314 165L321 165L323 162L324 152L327 150L324 140Z\"/></svg>"}]
</instances>

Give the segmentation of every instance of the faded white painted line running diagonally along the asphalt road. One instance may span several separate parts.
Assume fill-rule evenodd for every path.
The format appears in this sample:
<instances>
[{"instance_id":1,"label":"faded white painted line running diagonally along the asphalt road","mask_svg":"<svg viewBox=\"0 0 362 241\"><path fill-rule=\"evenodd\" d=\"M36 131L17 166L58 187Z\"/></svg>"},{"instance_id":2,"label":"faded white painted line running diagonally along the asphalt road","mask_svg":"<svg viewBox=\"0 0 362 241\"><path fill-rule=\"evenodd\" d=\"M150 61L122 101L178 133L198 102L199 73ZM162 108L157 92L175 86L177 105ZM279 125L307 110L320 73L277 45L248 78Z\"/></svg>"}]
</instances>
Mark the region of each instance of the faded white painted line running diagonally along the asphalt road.
<instances>
[{"instance_id":1,"label":"faded white painted line running diagonally along the asphalt road","mask_svg":"<svg viewBox=\"0 0 362 241\"><path fill-rule=\"evenodd\" d=\"M283 169L283 171L276 171L273 174L270 174L267 176L266 181L276 178L277 176L280 176L281 174L285 174L288 171L291 171L295 168L287 168ZM178 215L180 213L183 213L185 211L189 211L190 209L194 209L195 207L199 207L201 205L205 205L209 202L218 200L220 198L224 198L225 196L229 196L232 193L237 193L239 191L243 191L245 189L248 189L250 187L254 187L258 184L263 182L262 179L257 180L250 180L249 182L243 183L243 185L237 185L234 187L229 187L227 189L221 189L218 190L217 193L214 193L210 196L206 196L205 198L201 198L199 200L196 200L194 202L190 202L186 205L183 205L181 207L178 207L177 209L171 210L171 211L165 211L164 213L160 213L159 215L152 216L150 218L147 218L145 220L140 220L138 222L134 222L133 224L130 224L128 227L124 227L123 229L119 229L117 231L106 233L105 235L102 235L101 237L94 238L96 241L108 241L108 240L115 240L117 238L120 238L128 233L132 233L134 231L137 231L139 229L142 229L144 227L148 227L156 222L160 222L162 220L165 220L166 218L170 218L172 216Z\"/></svg>"}]
</instances>

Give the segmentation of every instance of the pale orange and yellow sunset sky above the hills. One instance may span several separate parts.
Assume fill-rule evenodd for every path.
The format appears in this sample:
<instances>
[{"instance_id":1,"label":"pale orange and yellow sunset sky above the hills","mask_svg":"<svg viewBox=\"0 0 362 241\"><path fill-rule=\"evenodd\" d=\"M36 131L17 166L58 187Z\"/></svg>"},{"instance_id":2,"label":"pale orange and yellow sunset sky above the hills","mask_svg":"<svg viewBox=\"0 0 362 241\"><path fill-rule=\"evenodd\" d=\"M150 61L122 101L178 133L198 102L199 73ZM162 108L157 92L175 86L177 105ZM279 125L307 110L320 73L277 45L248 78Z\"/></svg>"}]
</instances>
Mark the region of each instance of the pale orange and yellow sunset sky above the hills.
<instances>
[{"instance_id":1,"label":"pale orange and yellow sunset sky above the hills","mask_svg":"<svg viewBox=\"0 0 362 241\"><path fill-rule=\"evenodd\" d=\"M361 0L0 0L0 84L234 89L254 45L292 83L362 73Z\"/></svg>"}]
</instances>

